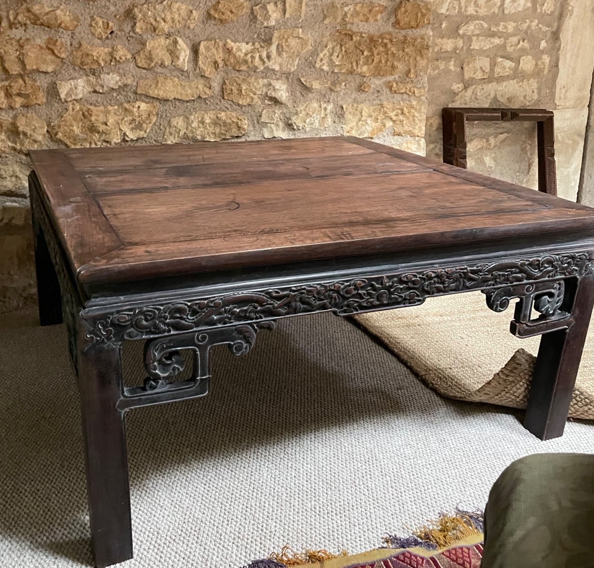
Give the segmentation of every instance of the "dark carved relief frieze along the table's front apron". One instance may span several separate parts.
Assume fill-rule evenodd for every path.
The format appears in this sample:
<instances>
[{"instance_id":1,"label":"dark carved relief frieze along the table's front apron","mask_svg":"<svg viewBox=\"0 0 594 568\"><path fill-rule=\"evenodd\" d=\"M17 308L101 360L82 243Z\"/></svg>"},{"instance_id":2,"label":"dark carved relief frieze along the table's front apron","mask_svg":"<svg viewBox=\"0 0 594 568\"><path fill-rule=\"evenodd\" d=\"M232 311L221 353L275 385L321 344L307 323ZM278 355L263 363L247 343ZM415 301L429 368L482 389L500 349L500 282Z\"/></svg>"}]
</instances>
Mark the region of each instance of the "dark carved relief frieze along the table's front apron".
<instances>
[{"instance_id":1,"label":"dark carved relief frieze along the table's front apron","mask_svg":"<svg viewBox=\"0 0 594 568\"><path fill-rule=\"evenodd\" d=\"M337 315L346 316L391 307L414 306L431 296L470 290L492 290L542 280L579 277L592 272L593 252L567 252L481 262L470 266L403 271L329 283L268 288L187 302L176 301L124 308L97 318L87 315L89 329L86 337L90 342L118 342L301 313L330 310ZM548 297L549 294L544 296ZM498 296L494 296L493 305L497 302L503 306L503 296L499 300ZM537 303L538 305L540 304Z\"/></svg>"}]
</instances>

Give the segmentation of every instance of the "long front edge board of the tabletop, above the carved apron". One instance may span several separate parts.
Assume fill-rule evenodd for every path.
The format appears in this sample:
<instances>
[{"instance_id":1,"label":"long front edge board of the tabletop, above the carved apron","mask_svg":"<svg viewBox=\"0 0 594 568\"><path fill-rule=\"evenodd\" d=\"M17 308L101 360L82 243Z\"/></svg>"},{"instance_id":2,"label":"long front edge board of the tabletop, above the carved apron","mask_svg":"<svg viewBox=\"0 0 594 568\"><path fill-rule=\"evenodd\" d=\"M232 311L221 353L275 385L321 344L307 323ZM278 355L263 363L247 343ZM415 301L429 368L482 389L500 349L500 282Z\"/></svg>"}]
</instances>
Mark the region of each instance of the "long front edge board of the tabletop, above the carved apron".
<instances>
[{"instance_id":1,"label":"long front edge board of the tabletop, above the carved apron","mask_svg":"<svg viewBox=\"0 0 594 568\"><path fill-rule=\"evenodd\" d=\"M337 256L403 252L422 247L464 246L465 243L504 239L510 232L519 238L535 236L535 242L539 234L554 232L576 233L590 229L590 236L594 236L594 220L571 209L542 209L530 220L526 220L522 212L513 216L509 212L474 215L465 220L466 226L461 227L456 218L445 218L427 233L419 233L418 223L409 221L400 224L398 236L394 236L393 224L377 224L361 239L340 229L319 231L315 236L309 230L296 229L276 234L273 244L268 233L260 235L254 230L254 234L233 240L218 238L125 246L94 259L81 269L79 278L83 283L106 283ZM266 244L261 237L266 239ZM303 244L306 239L310 244Z\"/></svg>"}]
</instances>

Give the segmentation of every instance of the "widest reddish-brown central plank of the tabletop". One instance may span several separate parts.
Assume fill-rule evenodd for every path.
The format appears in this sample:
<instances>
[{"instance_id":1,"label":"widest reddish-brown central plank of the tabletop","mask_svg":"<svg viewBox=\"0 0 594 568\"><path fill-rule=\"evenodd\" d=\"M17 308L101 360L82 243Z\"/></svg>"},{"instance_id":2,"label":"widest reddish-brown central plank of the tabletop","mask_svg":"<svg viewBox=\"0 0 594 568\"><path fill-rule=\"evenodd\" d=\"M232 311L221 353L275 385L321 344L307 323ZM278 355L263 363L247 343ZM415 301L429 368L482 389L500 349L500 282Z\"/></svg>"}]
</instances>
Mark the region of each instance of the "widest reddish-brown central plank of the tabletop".
<instances>
[{"instance_id":1,"label":"widest reddish-brown central plank of the tabletop","mask_svg":"<svg viewBox=\"0 0 594 568\"><path fill-rule=\"evenodd\" d=\"M274 246L274 234L294 229L342 227L361 238L377 223L391 223L398 235L403 222L416 221L425 233L444 217L456 217L462 226L466 215L541 210L438 172L135 193L134 207L126 193L99 195L97 201L126 245L235 239L257 229L267 231Z\"/></svg>"}]
</instances>

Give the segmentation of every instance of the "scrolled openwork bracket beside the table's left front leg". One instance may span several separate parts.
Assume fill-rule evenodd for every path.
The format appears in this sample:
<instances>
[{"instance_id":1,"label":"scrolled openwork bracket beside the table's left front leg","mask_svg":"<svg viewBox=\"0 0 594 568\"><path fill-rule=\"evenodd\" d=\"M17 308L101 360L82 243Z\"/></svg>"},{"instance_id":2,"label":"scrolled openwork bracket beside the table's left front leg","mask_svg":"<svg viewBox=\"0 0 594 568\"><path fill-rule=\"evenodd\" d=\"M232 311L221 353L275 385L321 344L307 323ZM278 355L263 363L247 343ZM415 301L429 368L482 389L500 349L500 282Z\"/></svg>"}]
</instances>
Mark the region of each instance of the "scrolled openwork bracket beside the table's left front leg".
<instances>
[{"instance_id":1,"label":"scrolled openwork bracket beside the table's left front leg","mask_svg":"<svg viewBox=\"0 0 594 568\"><path fill-rule=\"evenodd\" d=\"M147 341L144 345L144 367L148 376L143 386L124 389L118 408L125 410L206 395L210 382L210 348L226 344L234 355L245 355L254 347L260 329L274 329L275 326L274 321L242 323ZM182 350L193 352L191 376L185 380L171 380L185 368Z\"/></svg>"}]
</instances>

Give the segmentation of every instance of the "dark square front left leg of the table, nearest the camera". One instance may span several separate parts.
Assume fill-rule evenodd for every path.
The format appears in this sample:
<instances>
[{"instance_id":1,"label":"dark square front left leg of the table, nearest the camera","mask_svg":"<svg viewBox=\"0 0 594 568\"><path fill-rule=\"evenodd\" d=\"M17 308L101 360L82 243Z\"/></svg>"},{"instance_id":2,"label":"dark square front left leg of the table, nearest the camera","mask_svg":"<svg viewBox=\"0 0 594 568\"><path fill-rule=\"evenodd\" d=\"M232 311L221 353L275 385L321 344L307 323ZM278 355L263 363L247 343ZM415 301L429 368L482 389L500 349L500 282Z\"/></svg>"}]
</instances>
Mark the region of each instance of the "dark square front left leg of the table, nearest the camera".
<instances>
[{"instance_id":1,"label":"dark square front left leg of the table, nearest the camera","mask_svg":"<svg viewBox=\"0 0 594 568\"><path fill-rule=\"evenodd\" d=\"M98 568L132 558L128 455L119 345L78 352L91 544Z\"/></svg>"}]
</instances>

